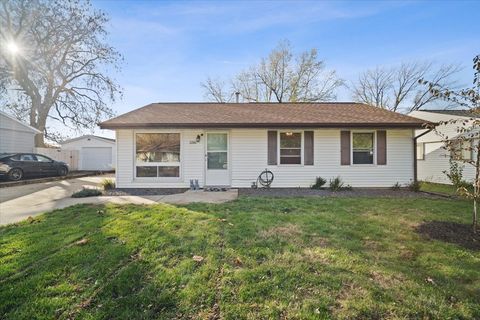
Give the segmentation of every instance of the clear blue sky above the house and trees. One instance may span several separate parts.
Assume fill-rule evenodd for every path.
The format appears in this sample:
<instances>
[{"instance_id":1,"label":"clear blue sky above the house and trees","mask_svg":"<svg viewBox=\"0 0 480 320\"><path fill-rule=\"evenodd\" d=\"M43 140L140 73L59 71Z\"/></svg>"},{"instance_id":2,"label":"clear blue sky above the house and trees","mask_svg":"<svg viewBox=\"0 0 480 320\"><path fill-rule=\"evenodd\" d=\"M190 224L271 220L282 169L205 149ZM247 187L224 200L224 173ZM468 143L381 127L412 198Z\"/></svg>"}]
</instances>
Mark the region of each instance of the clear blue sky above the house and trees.
<instances>
[{"instance_id":1,"label":"clear blue sky above the house and trees","mask_svg":"<svg viewBox=\"0 0 480 320\"><path fill-rule=\"evenodd\" d=\"M117 115L152 102L204 101L201 82L228 79L282 40L316 48L347 84L376 66L458 63L472 81L480 1L93 1L110 18L107 41L124 58ZM339 101L350 101L347 88ZM111 136L109 131L98 131Z\"/></svg>"}]
</instances>

